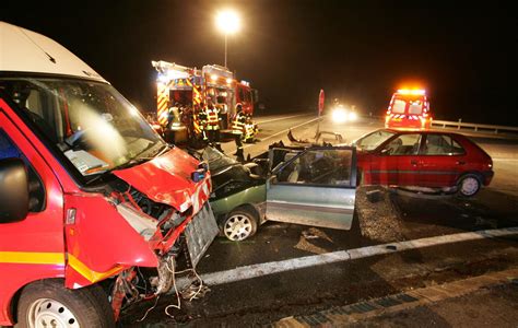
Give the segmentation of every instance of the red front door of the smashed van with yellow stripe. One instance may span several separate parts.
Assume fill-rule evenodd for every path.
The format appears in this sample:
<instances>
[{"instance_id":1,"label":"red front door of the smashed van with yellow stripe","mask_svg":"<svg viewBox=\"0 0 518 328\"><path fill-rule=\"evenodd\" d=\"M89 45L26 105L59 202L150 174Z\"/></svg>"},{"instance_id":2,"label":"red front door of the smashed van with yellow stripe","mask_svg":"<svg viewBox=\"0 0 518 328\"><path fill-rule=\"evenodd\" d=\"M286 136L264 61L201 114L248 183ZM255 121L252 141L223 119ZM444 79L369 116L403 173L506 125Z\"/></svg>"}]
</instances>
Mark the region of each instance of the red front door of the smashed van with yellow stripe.
<instances>
[{"instance_id":1,"label":"red front door of the smashed van with yellow stripe","mask_svg":"<svg viewBox=\"0 0 518 328\"><path fill-rule=\"evenodd\" d=\"M25 162L31 204L24 220L0 222L0 308L7 308L13 294L26 283L64 277L61 186L31 140L8 116L8 108L0 98L0 161L19 157ZM0 321L7 319L0 313Z\"/></svg>"}]
</instances>

